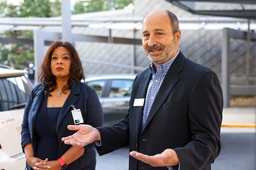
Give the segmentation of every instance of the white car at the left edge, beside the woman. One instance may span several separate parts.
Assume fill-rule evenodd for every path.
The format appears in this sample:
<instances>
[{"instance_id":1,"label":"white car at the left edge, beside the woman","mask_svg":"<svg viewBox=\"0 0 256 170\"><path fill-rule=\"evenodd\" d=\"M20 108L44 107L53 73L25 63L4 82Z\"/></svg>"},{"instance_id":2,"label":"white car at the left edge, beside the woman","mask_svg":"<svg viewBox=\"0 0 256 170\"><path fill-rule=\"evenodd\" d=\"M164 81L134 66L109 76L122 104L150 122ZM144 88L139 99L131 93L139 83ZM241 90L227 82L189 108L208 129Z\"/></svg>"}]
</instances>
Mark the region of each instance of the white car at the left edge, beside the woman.
<instances>
[{"instance_id":1,"label":"white car at the left edge, beside the woman","mask_svg":"<svg viewBox=\"0 0 256 170\"><path fill-rule=\"evenodd\" d=\"M24 170L21 123L33 88L26 71L0 68L0 170Z\"/></svg>"}]
</instances>

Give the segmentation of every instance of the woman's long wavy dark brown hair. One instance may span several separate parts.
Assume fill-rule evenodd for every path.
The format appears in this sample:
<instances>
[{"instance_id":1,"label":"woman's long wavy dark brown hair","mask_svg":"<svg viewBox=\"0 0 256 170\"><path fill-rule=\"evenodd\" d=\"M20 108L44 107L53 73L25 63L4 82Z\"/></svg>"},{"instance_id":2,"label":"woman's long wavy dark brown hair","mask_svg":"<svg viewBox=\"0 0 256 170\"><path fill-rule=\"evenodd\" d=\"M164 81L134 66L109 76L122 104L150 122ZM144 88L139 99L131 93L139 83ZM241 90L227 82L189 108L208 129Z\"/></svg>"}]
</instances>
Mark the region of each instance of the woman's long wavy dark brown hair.
<instances>
[{"instance_id":1,"label":"woman's long wavy dark brown hair","mask_svg":"<svg viewBox=\"0 0 256 170\"><path fill-rule=\"evenodd\" d=\"M84 79L84 71L82 68L81 60L79 55L75 49L75 47L70 42L62 42L56 41L53 42L44 56L43 61L41 62L38 74L38 82L44 85L44 92L48 96L51 96L49 93L54 91L56 88L56 81L55 76L52 74L51 71L51 59L52 59L52 52L57 47L64 47L70 52L71 57L71 65L70 65L70 79L67 81L67 85L62 87L63 93L66 89L70 89L73 83L78 80Z\"/></svg>"}]
</instances>

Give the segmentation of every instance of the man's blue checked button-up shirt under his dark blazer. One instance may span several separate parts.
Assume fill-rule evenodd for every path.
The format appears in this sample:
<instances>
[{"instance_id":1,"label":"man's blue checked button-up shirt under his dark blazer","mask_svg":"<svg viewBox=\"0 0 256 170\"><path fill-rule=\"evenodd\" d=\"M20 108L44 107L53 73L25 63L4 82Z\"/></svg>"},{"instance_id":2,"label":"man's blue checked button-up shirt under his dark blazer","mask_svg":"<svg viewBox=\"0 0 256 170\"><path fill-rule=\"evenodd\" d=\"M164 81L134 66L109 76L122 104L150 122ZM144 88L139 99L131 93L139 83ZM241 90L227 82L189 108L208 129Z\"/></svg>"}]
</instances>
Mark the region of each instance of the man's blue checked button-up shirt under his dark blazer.
<instances>
[{"instance_id":1,"label":"man's blue checked button-up shirt under his dark blazer","mask_svg":"<svg viewBox=\"0 0 256 170\"><path fill-rule=\"evenodd\" d=\"M149 65L149 70L152 73L152 77L151 77L151 80L148 85L148 91L147 91L145 106L144 106L144 110L143 110L141 131L144 128L145 122L148 118L148 113L151 109L151 106L154 102L157 92L163 82L163 79L164 79L165 75L167 74L167 72L169 71L169 68L171 67L172 62L175 60L175 58L177 57L179 52L180 52L180 50L178 50L177 53L175 54L175 56L172 57L171 59L169 59L167 62L165 62L161 65L157 65L157 70L155 70L153 62L151 62ZM167 167L167 168L169 170L175 170L173 167ZM180 169L180 167L179 167L179 169Z\"/></svg>"}]
</instances>

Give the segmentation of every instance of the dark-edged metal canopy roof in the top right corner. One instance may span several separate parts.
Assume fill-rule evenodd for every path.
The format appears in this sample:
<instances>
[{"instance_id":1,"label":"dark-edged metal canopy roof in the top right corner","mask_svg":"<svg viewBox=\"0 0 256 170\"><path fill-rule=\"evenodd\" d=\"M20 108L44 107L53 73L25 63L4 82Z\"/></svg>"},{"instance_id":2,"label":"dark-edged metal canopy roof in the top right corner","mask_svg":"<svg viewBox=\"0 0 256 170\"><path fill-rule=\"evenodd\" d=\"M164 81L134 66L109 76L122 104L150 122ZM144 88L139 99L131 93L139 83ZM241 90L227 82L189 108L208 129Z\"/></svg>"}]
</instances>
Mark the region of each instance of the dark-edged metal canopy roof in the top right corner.
<instances>
[{"instance_id":1,"label":"dark-edged metal canopy roof in the top right corner","mask_svg":"<svg viewBox=\"0 0 256 170\"><path fill-rule=\"evenodd\" d=\"M256 20L256 0L167 0L192 14ZM209 8L208 8L209 7Z\"/></svg>"}]
</instances>

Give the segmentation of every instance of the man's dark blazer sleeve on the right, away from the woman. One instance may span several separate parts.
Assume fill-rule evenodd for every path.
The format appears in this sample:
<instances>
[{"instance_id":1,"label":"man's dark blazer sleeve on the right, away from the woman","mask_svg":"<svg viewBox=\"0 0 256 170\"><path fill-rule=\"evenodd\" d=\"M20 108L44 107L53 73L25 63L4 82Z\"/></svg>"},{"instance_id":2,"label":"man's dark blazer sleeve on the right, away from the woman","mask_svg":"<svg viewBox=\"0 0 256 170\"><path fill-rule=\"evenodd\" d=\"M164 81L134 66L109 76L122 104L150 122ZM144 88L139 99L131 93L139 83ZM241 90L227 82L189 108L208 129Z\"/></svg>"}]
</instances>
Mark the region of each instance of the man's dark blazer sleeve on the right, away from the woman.
<instances>
[{"instance_id":1,"label":"man's dark blazer sleeve on the right, away from the woman","mask_svg":"<svg viewBox=\"0 0 256 170\"><path fill-rule=\"evenodd\" d=\"M192 141L175 148L180 170L209 166L220 153L223 96L217 75L204 71L193 85L188 105Z\"/></svg>"}]
</instances>

